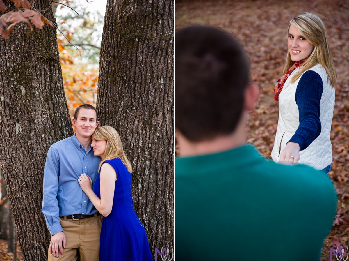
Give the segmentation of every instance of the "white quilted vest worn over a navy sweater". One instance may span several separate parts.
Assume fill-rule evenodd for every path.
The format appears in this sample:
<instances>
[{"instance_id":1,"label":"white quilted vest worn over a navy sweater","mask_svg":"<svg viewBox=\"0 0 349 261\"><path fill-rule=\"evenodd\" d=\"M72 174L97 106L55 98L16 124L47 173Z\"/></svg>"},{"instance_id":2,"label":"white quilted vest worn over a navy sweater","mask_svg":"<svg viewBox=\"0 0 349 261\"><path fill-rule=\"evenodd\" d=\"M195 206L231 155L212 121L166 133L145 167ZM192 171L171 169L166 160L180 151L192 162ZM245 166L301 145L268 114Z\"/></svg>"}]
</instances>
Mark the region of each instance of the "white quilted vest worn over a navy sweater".
<instances>
[{"instance_id":1,"label":"white quilted vest worn over a navy sweater","mask_svg":"<svg viewBox=\"0 0 349 261\"><path fill-rule=\"evenodd\" d=\"M296 68L295 71L292 72L279 95L279 122L277 123L275 142L271 154L275 162L279 162L280 153L299 126L296 89L302 76L293 84L290 84L292 75L295 75L299 69L300 68ZM335 93L334 88L332 88L327 80L327 73L324 67L317 64L308 71L318 73L324 87L320 100L321 133L305 150L299 152L300 159L298 160L298 164L309 165L320 170L332 163L332 144L329 135L331 132Z\"/></svg>"}]
</instances>

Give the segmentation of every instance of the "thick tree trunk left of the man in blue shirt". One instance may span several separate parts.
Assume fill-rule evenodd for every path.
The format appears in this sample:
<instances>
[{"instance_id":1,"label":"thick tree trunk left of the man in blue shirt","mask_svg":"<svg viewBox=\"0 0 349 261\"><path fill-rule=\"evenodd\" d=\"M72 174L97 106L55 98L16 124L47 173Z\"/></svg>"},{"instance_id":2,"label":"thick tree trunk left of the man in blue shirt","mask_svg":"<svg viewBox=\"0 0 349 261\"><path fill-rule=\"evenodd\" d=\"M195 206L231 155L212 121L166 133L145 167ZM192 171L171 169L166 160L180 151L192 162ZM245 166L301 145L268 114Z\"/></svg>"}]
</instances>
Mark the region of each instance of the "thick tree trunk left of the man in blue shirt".
<instances>
[{"instance_id":1,"label":"thick tree trunk left of the man in blue shirt","mask_svg":"<svg viewBox=\"0 0 349 261\"><path fill-rule=\"evenodd\" d=\"M42 15L54 23L51 1L31 4L47 9ZM21 22L8 40L0 37L0 162L23 260L39 261L47 260L51 238L41 211L46 154L73 130L56 29L45 25L26 32Z\"/></svg>"}]
</instances>

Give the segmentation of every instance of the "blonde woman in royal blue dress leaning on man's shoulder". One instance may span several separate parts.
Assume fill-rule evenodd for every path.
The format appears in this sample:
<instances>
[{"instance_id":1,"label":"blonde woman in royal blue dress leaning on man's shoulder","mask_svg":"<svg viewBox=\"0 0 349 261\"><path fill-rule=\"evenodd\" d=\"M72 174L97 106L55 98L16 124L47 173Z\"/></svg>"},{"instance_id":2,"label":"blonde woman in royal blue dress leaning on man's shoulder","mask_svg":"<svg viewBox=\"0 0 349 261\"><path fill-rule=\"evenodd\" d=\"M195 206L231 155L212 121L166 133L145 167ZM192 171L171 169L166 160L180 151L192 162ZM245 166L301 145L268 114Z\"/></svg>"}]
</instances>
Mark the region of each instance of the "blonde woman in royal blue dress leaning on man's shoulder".
<instances>
[{"instance_id":1,"label":"blonde woman in royal blue dress leaning on man's shoulder","mask_svg":"<svg viewBox=\"0 0 349 261\"><path fill-rule=\"evenodd\" d=\"M94 155L102 158L94 189L86 174L82 174L78 182L104 216L99 261L153 260L146 231L133 209L132 165L118 132L110 126L98 126L91 146Z\"/></svg>"}]
</instances>

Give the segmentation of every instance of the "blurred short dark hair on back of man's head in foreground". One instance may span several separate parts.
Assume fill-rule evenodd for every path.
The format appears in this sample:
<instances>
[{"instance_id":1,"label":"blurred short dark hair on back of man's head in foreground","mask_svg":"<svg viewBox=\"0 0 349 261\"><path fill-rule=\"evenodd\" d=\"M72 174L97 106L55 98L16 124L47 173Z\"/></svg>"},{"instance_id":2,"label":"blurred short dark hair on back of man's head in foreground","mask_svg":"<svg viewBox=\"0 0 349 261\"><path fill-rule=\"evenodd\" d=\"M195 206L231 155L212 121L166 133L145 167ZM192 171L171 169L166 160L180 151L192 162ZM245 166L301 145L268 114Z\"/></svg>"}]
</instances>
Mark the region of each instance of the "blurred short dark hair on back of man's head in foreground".
<instances>
[{"instance_id":1,"label":"blurred short dark hair on back of man's head in foreground","mask_svg":"<svg viewBox=\"0 0 349 261\"><path fill-rule=\"evenodd\" d=\"M176 32L176 129L191 142L230 135L244 109L248 59L221 29Z\"/></svg>"}]
</instances>

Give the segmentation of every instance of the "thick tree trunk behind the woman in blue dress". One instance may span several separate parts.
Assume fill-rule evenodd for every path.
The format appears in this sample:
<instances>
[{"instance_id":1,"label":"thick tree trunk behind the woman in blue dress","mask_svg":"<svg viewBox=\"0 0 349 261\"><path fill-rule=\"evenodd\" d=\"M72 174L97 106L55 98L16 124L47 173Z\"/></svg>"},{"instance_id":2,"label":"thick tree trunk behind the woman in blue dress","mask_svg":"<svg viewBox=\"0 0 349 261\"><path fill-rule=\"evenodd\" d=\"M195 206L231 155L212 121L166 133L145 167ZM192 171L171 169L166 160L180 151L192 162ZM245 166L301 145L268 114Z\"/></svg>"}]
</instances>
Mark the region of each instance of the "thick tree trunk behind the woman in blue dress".
<instances>
[{"instance_id":1,"label":"thick tree trunk behind the woman in blue dress","mask_svg":"<svg viewBox=\"0 0 349 261\"><path fill-rule=\"evenodd\" d=\"M151 252L172 252L172 0L107 1L97 110L100 124L118 130L133 166L133 205Z\"/></svg>"}]
</instances>

